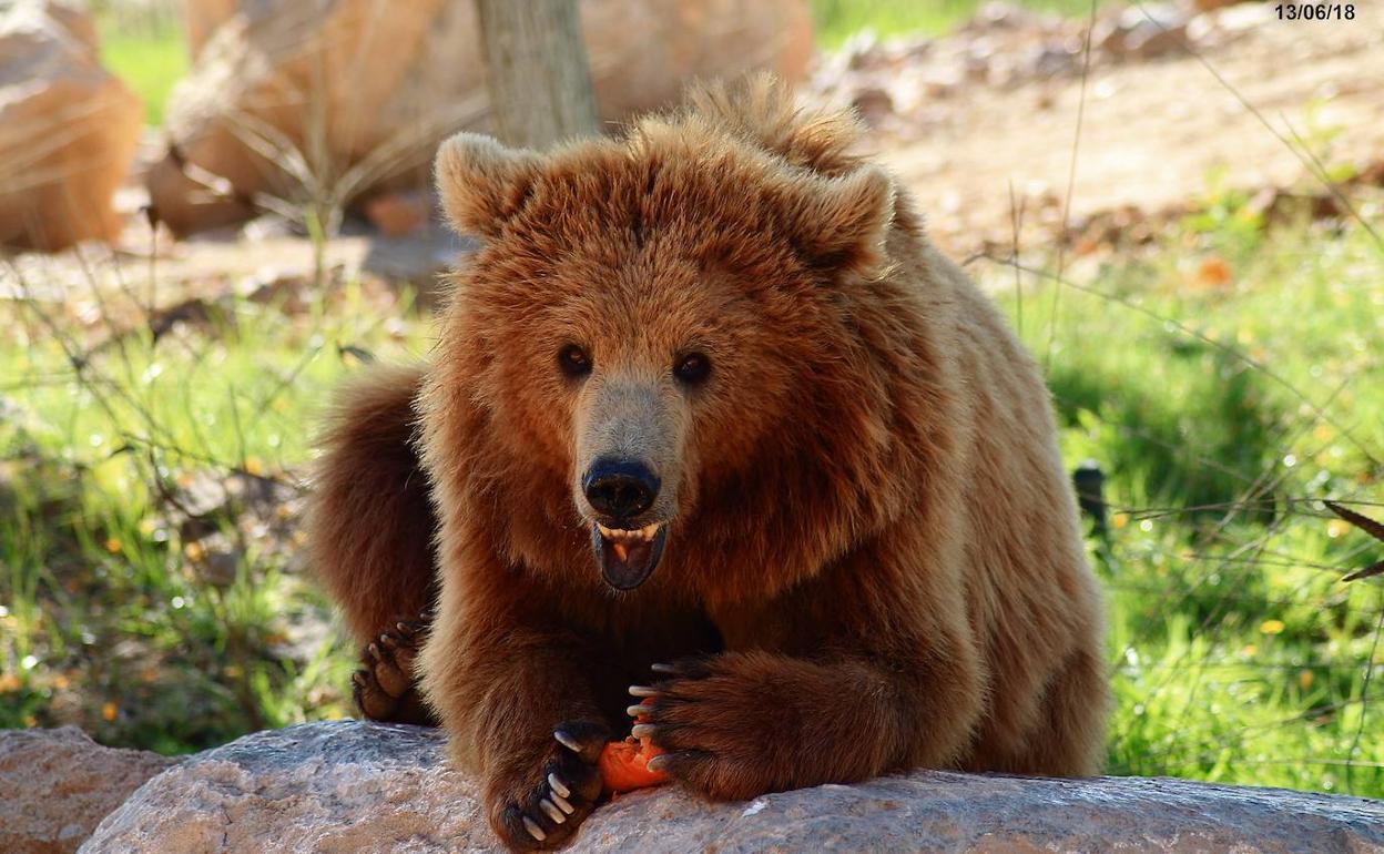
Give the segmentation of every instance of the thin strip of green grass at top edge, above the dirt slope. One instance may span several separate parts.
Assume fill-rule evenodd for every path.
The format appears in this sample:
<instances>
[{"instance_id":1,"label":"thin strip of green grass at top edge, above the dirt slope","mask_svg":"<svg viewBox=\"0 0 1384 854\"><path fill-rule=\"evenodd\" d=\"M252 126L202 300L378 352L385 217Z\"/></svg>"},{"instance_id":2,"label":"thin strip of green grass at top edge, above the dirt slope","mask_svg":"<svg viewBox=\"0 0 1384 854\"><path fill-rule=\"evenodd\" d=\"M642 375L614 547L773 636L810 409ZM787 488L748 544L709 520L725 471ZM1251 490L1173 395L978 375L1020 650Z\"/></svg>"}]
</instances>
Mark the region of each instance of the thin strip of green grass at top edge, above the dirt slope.
<instances>
[{"instance_id":1,"label":"thin strip of green grass at top edge, above the dirt slope","mask_svg":"<svg viewBox=\"0 0 1384 854\"><path fill-rule=\"evenodd\" d=\"M1111 0L1098 0L1109 6ZM879 37L941 35L972 18L984 0L812 0L817 42L830 50L869 28ZM1086 15L1091 0L1017 0L1041 12Z\"/></svg>"}]
</instances>

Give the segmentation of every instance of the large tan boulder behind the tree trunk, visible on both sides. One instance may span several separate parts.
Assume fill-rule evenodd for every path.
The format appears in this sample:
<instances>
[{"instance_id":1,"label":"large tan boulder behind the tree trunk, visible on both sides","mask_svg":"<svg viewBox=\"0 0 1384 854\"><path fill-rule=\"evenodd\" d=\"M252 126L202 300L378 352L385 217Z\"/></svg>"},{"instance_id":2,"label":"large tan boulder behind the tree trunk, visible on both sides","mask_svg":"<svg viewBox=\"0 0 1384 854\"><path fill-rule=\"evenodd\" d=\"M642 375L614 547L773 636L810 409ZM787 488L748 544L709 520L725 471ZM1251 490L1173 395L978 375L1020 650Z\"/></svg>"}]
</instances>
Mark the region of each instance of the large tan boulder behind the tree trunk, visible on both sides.
<instances>
[{"instance_id":1,"label":"large tan boulder behind the tree trunk, visible on both sides","mask_svg":"<svg viewBox=\"0 0 1384 854\"><path fill-rule=\"evenodd\" d=\"M425 185L443 137L489 130L475 14L473 0L190 0L195 64L148 177L159 217L187 234L273 199ZM605 120L698 76L797 80L812 51L805 0L584 0L581 17Z\"/></svg>"}]
</instances>

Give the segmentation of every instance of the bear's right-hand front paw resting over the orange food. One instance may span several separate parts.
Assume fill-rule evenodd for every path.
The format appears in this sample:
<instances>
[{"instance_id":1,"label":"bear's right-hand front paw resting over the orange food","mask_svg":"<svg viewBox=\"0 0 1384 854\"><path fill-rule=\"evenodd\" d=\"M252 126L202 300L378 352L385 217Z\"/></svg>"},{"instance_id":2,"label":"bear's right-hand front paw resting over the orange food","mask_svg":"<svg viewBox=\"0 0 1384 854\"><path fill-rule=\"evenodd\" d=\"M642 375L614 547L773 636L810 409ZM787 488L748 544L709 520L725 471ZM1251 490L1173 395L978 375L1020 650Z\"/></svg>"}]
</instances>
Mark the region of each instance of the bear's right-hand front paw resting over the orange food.
<instances>
[{"instance_id":1,"label":"bear's right-hand front paw resting over the orange food","mask_svg":"<svg viewBox=\"0 0 1384 854\"><path fill-rule=\"evenodd\" d=\"M630 714L638 721L631 732L648 738L662 753L649 760L650 771L663 771L682 785L717 800L743 800L782 788L776 782L775 745L792 738L778 732L778 711L764 695L764 685L740 673L728 656L682 659L655 664L666 677L652 687L631 685L644 698Z\"/></svg>"}]
</instances>

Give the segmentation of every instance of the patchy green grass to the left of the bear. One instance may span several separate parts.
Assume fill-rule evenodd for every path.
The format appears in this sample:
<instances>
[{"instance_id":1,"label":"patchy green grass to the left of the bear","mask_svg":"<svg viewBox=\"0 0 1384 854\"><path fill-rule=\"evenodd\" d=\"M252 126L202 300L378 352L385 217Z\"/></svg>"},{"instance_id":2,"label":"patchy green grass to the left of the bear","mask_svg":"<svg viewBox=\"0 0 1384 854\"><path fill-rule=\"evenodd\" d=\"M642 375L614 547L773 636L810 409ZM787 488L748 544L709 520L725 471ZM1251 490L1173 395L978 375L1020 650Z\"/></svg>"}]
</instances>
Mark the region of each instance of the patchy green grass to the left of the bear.
<instances>
[{"instance_id":1,"label":"patchy green grass to the left of the bear","mask_svg":"<svg viewBox=\"0 0 1384 854\"><path fill-rule=\"evenodd\" d=\"M230 300L79 372L105 324L3 311L0 727L177 753L347 713L352 655L300 569L299 478L358 364L339 347L421 353L417 317L354 285L304 311Z\"/></svg>"}]
</instances>

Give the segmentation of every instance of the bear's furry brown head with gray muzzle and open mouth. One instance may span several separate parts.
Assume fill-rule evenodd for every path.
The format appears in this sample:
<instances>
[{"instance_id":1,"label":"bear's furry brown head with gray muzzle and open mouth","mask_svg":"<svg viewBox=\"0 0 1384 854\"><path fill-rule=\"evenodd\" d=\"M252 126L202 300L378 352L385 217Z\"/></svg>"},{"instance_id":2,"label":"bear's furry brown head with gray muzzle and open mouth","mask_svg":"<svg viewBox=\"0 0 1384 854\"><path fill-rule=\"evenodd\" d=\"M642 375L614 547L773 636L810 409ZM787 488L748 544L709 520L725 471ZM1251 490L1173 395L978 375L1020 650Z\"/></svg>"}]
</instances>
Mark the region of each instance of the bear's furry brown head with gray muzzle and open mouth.
<instances>
[{"instance_id":1,"label":"bear's furry brown head with gray muzzle and open mouth","mask_svg":"<svg viewBox=\"0 0 1384 854\"><path fill-rule=\"evenodd\" d=\"M660 563L671 584L782 587L897 509L875 350L898 331L871 340L908 325L886 282L894 185L792 151L704 111L548 154L443 144L443 208L482 246L422 408L429 446L475 447L425 451L508 558L594 558L616 590Z\"/></svg>"}]
</instances>

